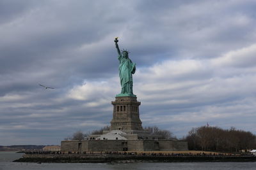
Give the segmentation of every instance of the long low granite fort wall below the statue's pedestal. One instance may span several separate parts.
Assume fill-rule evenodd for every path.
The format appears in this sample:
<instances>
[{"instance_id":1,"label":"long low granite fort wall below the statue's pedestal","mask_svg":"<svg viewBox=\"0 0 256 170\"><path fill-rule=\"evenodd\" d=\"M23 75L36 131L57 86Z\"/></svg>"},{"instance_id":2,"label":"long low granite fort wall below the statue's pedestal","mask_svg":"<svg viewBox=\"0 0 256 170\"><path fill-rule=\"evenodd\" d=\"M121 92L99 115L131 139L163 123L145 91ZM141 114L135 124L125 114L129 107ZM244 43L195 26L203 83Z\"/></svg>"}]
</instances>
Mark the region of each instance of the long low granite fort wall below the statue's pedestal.
<instances>
[{"instance_id":1,"label":"long low granite fort wall below the statue's pedestal","mask_svg":"<svg viewBox=\"0 0 256 170\"><path fill-rule=\"evenodd\" d=\"M122 152L188 150L188 141L83 140L61 141L61 152Z\"/></svg>"}]
</instances>

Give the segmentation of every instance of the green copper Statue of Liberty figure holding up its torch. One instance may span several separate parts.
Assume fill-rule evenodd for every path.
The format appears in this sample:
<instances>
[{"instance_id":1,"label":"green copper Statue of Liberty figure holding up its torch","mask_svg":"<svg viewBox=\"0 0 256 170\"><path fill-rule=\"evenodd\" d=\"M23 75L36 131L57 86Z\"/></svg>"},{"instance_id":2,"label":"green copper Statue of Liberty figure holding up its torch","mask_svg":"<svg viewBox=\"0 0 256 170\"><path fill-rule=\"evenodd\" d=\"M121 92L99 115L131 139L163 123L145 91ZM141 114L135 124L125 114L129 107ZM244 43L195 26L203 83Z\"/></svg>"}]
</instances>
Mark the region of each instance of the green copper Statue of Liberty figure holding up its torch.
<instances>
[{"instance_id":1,"label":"green copper Statue of Liberty figure holding up its torch","mask_svg":"<svg viewBox=\"0 0 256 170\"><path fill-rule=\"evenodd\" d=\"M120 83L122 87L122 91L120 94L116 95L116 97L121 96L132 96L136 97L136 95L132 92L132 74L135 73L136 67L135 63L129 59L128 51L122 50L122 53L120 52L120 49L118 47L118 39L115 38L115 44L116 44L116 50L118 52L118 60L119 60L119 77L120 77Z\"/></svg>"}]
</instances>

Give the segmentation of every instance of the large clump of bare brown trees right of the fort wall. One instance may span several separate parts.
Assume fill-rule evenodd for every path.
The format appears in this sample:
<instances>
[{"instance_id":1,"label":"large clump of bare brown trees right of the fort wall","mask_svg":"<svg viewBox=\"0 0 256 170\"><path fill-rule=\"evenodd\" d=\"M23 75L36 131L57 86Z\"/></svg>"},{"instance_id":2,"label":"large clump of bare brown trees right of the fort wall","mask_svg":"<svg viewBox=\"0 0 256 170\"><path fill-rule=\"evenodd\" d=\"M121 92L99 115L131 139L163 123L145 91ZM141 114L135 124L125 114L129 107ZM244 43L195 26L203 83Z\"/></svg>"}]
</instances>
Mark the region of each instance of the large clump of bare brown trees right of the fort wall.
<instances>
[{"instance_id":1,"label":"large clump of bare brown trees right of the fort wall","mask_svg":"<svg viewBox=\"0 0 256 170\"><path fill-rule=\"evenodd\" d=\"M185 138L189 150L247 152L256 148L256 136L252 132L220 127L202 126L191 129Z\"/></svg>"}]
</instances>

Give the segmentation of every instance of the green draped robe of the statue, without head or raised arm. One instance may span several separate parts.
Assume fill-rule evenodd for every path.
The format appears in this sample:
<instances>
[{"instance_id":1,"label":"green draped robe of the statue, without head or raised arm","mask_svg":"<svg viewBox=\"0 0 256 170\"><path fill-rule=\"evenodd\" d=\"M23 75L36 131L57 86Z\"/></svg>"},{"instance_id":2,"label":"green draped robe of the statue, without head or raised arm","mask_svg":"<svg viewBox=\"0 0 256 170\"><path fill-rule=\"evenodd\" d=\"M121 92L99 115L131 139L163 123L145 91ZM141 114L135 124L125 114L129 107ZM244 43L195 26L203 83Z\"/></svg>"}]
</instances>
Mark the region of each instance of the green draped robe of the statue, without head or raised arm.
<instances>
[{"instance_id":1,"label":"green draped robe of the statue, without head or raised arm","mask_svg":"<svg viewBox=\"0 0 256 170\"><path fill-rule=\"evenodd\" d=\"M132 95L132 74L135 73L135 63L132 63L129 57L125 58L122 53L118 55L119 60L119 77L122 87L121 94Z\"/></svg>"}]
</instances>

